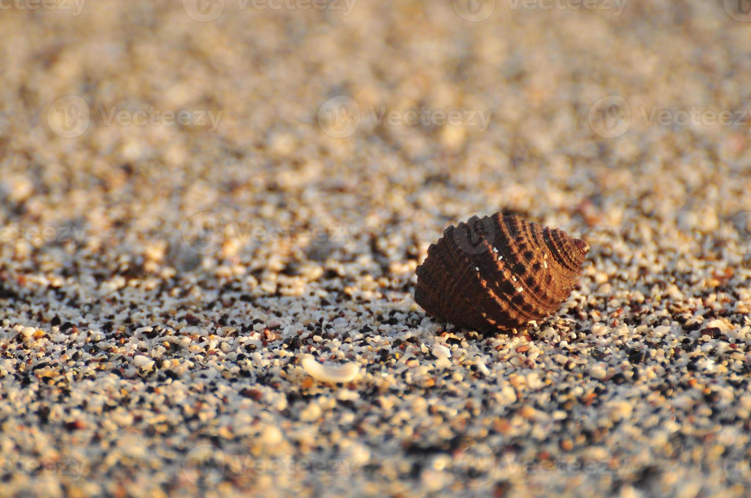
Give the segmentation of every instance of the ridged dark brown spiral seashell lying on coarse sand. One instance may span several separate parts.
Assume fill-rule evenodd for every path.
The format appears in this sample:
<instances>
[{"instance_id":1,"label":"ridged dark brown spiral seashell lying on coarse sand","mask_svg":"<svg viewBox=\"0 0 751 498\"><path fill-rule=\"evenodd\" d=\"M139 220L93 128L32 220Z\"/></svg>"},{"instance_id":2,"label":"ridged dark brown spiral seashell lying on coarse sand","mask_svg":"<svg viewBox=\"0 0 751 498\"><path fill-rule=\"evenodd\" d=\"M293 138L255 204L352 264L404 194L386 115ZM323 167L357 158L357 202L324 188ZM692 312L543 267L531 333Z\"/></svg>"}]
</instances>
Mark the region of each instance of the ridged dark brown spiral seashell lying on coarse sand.
<instances>
[{"instance_id":1,"label":"ridged dark brown spiral seashell lying on coarse sand","mask_svg":"<svg viewBox=\"0 0 751 498\"><path fill-rule=\"evenodd\" d=\"M523 329L569 299L590 246L515 215L449 226L418 266L415 302L481 332Z\"/></svg>"}]
</instances>

